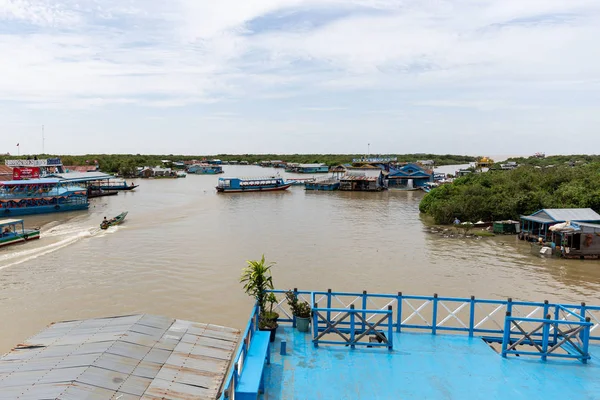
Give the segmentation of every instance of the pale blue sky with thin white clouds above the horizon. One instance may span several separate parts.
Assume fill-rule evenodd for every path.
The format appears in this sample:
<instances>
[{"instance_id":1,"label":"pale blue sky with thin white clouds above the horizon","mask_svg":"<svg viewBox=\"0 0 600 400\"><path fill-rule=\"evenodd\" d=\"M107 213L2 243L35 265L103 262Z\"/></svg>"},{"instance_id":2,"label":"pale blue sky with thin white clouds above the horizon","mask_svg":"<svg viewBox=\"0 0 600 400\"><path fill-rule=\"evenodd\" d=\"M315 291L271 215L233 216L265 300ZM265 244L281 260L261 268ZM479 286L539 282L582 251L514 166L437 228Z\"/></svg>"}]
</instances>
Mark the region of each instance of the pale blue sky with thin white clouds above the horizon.
<instances>
[{"instance_id":1,"label":"pale blue sky with thin white clouds above the horizon","mask_svg":"<svg viewBox=\"0 0 600 400\"><path fill-rule=\"evenodd\" d=\"M598 0L0 0L0 153L599 153L598 38Z\"/></svg>"}]
</instances>

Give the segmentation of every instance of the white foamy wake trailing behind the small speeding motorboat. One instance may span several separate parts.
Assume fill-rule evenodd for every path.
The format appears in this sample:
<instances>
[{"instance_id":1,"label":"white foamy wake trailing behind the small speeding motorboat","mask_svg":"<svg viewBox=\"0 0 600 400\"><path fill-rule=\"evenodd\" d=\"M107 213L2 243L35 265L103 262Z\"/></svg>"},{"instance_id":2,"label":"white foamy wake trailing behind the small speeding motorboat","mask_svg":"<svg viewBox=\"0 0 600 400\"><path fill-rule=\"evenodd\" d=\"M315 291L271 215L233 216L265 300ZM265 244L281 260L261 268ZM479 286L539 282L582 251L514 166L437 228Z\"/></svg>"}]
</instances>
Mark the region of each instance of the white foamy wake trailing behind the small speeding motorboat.
<instances>
[{"instance_id":1,"label":"white foamy wake trailing behind the small speeding motorboat","mask_svg":"<svg viewBox=\"0 0 600 400\"><path fill-rule=\"evenodd\" d=\"M66 237L41 247L0 254L0 270L45 256L86 238L103 237L108 234L115 233L118 229L118 226L112 226L106 230L102 230L98 227L82 229L81 227L76 228L73 226L58 226L46 232L42 231L40 235L40 241L45 238L60 236ZM36 243L40 242L36 241Z\"/></svg>"}]
</instances>

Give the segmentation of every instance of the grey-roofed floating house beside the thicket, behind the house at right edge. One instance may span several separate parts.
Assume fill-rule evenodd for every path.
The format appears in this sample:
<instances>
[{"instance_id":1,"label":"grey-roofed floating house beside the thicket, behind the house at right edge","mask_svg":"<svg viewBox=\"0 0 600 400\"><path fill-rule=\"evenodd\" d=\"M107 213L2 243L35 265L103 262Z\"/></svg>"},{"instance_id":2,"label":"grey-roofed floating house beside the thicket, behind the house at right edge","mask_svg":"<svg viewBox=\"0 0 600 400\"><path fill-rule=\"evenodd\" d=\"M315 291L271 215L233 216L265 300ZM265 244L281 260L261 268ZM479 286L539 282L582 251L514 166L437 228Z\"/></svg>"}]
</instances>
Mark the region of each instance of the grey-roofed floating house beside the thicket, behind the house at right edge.
<instances>
[{"instance_id":1,"label":"grey-roofed floating house beside the thicket, behind the house at right edge","mask_svg":"<svg viewBox=\"0 0 600 400\"><path fill-rule=\"evenodd\" d=\"M591 208L545 208L531 215L522 215L520 238L552 240L552 225L563 222L600 224L600 215Z\"/></svg>"}]
</instances>

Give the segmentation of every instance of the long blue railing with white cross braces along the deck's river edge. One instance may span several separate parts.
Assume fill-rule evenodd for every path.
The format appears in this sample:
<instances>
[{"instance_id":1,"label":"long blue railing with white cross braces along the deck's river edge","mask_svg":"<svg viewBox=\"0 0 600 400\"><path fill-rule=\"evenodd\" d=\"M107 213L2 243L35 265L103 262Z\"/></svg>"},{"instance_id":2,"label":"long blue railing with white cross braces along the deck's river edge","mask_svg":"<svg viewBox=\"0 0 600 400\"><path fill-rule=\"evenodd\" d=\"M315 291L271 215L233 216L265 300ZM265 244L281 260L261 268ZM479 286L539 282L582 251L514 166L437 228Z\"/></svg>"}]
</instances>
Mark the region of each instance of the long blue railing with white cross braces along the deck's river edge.
<instances>
[{"instance_id":1,"label":"long blue railing with white cross braces along the deck's river edge","mask_svg":"<svg viewBox=\"0 0 600 400\"><path fill-rule=\"evenodd\" d=\"M284 295L285 290L273 290L276 295ZM600 341L600 306L588 306L585 303L558 304L549 302L527 302L507 300L478 299L474 296L441 297L380 293L355 293L327 291L295 290L299 299L307 301L313 308L315 304L326 304L325 308L349 309L351 305L363 310L363 317L368 310L387 309L392 306L392 326L396 332L403 330L425 331L431 334L457 333L469 336L482 336L492 341L501 342L504 337L504 317L511 312L513 317L544 318L553 313L554 319L570 321L576 317L590 317L591 341ZM376 304L375 302L379 302ZM279 323L291 323L295 326L295 318L289 309L285 308L283 297L275 306L280 313ZM339 318L340 313L326 311L328 320ZM373 316L367 317L373 318ZM350 321L342 321L341 329L349 329ZM361 322L362 325L362 322ZM364 329L364 327L363 327ZM518 332L514 333L518 335ZM553 338L556 332L551 330ZM541 338L541 333L535 336Z\"/></svg>"}]
</instances>

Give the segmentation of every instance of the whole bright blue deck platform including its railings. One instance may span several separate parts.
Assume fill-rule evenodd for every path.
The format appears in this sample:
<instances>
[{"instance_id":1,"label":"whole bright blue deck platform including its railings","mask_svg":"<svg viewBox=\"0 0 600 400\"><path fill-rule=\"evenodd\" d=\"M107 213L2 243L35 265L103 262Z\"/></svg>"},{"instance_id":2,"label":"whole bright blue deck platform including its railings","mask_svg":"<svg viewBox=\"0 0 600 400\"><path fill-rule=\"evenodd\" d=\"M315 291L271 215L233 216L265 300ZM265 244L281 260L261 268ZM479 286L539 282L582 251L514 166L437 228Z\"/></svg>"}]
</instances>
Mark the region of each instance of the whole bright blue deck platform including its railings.
<instances>
[{"instance_id":1,"label":"whole bright blue deck platform including its railings","mask_svg":"<svg viewBox=\"0 0 600 400\"><path fill-rule=\"evenodd\" d=\"M275 341L257 363L255 307L222 399L248 376L264 400L600 398L600 306L296 291L313 311L302 333L273 293Z\"/></svg>"}]
</instances>

